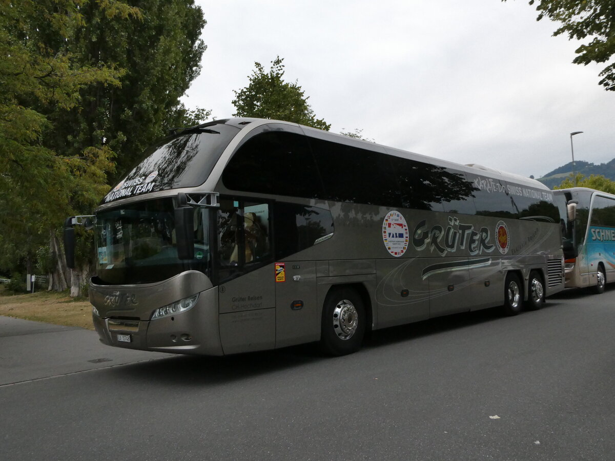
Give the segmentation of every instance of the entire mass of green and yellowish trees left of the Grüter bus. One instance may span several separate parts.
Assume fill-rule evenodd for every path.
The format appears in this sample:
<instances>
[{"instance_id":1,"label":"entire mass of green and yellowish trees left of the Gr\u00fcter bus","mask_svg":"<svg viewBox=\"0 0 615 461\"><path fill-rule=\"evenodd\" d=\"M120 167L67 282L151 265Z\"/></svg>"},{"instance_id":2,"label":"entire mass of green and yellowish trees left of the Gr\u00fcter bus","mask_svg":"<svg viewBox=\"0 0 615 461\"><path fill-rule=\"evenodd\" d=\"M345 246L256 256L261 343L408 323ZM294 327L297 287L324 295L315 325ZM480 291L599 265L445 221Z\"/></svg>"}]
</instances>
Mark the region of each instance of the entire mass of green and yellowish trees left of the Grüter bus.
<instances>
[{"instance_id":1,"label":"entire mass of green and yellowish trees left of the Gr\u00fcter bus","mask_svg":"<svg viewBox=\"0 0 615 461\"><path fill-rule=\"evenodd\" d=\"M0 0L0 269L51 251L66 278L63 219L165 130L207 118L179 101L204 25L194 0Z\"/></svg>"}]
</instances>

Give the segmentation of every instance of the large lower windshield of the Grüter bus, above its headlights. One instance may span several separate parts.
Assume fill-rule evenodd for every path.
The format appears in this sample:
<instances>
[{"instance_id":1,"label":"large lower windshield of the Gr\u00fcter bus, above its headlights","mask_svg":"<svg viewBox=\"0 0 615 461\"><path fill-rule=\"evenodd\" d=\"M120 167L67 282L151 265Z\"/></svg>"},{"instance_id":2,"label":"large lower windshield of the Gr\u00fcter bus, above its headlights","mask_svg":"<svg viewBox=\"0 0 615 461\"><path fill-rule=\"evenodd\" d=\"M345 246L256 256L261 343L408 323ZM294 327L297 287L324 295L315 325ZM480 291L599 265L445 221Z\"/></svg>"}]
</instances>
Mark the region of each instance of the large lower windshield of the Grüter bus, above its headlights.
<instances>
[{"instance_id":1,"label":"large lower windshield of the Gr\u00fcter bus, above its headlights","mask_svg":"<svg viewBox=\"0 0 615 461\"><path fill-rule=\"evenodd\" d=\"M194 209L194 258L177 256L173 199L147 200L96 215L99 282L160 282L185 270L210 275L207 211Z\"/></svg>"}]
</instances>

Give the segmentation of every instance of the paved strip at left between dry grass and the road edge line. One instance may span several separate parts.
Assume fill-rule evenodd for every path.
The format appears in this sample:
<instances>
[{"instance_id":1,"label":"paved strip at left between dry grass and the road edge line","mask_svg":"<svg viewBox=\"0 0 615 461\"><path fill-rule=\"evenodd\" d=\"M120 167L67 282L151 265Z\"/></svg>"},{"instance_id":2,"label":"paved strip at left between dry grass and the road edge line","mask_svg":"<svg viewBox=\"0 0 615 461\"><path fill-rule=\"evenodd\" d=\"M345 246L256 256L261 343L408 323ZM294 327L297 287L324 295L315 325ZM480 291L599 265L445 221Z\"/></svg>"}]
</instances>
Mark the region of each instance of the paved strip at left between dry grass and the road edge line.
<instances>
[{"instance_id":1,"label":"paved strip at left between dry grass and the road edge line","mask_svg":"<svg viewBox=\"0 0 615 461\"><path fill-rule=\"evenodd\" d=\"M0 316L0 385L164 357L103 345L84 328Z\"/></svg>"}]
</instances>

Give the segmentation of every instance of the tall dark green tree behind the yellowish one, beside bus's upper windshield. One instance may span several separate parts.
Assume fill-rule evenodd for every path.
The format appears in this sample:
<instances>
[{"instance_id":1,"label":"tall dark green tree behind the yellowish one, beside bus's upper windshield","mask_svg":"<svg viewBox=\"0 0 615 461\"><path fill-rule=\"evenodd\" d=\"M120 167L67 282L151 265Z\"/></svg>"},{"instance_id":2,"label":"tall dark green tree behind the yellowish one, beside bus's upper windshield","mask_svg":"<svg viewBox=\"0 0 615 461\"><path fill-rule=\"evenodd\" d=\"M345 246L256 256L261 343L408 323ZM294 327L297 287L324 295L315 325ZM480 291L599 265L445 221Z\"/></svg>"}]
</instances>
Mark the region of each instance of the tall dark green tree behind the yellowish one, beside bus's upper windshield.
<instances>
[{"instance_id":1,"label":"tall dark green tree behind the yellowish one, beside bus's upper windshield","mask_svg":"<svg viewBox=\"0 0 615 461\"><path fill-rule=\"evenodd\" d=\"M108 0L106 0L108 1ZM105 1L105 2L106 2ZM81 90L81 104L69 114L55 113L52 147L77 155L84 146L114 152L116 183L169 128L196 124L210 111L189 111L180 97L200 73L206 49L200 33L207 23L194 0L125 0L138 16L120 21L90 1L84 25L63 47L82 65L115 63L124 70L121 86L92 85Z\"/></svg>"}]
</instances>

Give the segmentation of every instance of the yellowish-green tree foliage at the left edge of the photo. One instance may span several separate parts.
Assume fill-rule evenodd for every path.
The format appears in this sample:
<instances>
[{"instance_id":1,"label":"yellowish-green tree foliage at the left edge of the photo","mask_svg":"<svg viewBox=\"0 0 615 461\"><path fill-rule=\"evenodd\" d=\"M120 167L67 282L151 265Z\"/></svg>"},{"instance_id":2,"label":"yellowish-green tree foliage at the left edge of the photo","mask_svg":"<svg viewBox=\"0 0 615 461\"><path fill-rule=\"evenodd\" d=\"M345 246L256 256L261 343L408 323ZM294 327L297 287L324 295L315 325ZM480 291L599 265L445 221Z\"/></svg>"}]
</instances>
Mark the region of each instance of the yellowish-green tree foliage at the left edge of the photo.
<instances>
[{"instance_id":1,"label":"yellowish-green tree foliage at the left edge of the photo","mask_svg":"<svg viewBox=\"0 0 615 461\"><path fill-rule=\"evenodd\" d=\"M65 156L49 147L49 114L66 114L80 103L82 89L117 87L122 71L101 63L79 63L54 47L74 39L87 0L0 0L0 265L33 272L36 251L72 211L77 197L100 197L105 173L113 170L107 149L84 146ZM109 17L136 10L123 2L100 2Z\"/></svg>"}]
</instances>

